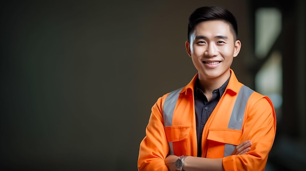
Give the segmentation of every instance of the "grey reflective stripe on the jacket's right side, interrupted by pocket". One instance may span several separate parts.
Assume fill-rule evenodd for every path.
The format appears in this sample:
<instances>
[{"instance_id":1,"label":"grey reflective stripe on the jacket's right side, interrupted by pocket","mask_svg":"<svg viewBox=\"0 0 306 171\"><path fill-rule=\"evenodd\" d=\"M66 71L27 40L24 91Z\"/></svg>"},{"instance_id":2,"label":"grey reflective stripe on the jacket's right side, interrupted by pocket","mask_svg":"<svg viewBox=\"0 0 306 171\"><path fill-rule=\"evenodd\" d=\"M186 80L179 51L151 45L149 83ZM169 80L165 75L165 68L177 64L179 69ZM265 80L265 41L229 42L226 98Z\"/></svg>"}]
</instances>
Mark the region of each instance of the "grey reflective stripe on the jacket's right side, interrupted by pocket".
<instances>
[{"instance_id":1,"label":"grey reflective stripe on the jacket's right side, interrupted by pocket","mask_svg":"<svg viewBox=\"0 0 306 171\"><path fill-rule=\"evenodd\" d=\"M242 86L240 88L239 94L237 96L230 121L228 123L229 129L241 130L244 112L246 108L246 103L249 97L252 95L254 91L247 86ZM224 157L229 156L234 152L236 145L233 144L225 144L224 147Z\"/></svg>"}]
</instances>

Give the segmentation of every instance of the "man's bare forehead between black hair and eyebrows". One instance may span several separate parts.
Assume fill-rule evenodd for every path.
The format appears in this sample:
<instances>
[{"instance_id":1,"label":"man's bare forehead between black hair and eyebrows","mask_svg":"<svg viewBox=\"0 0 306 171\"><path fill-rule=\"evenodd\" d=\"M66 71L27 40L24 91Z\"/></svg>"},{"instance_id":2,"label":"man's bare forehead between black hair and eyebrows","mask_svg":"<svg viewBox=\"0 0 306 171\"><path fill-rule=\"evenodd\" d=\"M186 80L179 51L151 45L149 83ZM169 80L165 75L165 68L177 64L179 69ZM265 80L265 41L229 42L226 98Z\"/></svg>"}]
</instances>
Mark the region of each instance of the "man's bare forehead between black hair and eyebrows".
<instances>
[{"instance_id":1,"label":"man's bare forehead between black hair and eyebrows","mask_svg":"<svg viewBox=\"0 0 306 171\"><path fill-rule=\"evenodd\" d=\"M215 37L227 36L233 38L230 25L223 20L209 20L199 22L194 30L195 36Z\"/></svg>"}]
</instances>

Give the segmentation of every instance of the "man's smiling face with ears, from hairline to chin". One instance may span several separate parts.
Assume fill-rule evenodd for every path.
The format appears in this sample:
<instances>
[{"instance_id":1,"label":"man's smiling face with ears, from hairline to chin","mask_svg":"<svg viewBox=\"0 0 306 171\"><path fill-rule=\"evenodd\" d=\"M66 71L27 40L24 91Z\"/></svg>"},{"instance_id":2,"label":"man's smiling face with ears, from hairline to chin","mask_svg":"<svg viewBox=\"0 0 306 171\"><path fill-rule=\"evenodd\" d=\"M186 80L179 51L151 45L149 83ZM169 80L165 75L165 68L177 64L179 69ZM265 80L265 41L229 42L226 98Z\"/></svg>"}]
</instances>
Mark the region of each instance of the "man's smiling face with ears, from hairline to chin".
<instances>
[{"instance_id":1,"label":"man's smiling face with ears, from hairline to chin","mask_svg":"<svg viewBox=\"0 0 306 171\"><path fill-rule=\"evenodd\" d=\"M229 24L221 20L198 23L191 34L190 43L186 41L187 53L192 58L200 80L226 80L240 47L240 41L234 40Z\"/></svg>"}]
</instances>

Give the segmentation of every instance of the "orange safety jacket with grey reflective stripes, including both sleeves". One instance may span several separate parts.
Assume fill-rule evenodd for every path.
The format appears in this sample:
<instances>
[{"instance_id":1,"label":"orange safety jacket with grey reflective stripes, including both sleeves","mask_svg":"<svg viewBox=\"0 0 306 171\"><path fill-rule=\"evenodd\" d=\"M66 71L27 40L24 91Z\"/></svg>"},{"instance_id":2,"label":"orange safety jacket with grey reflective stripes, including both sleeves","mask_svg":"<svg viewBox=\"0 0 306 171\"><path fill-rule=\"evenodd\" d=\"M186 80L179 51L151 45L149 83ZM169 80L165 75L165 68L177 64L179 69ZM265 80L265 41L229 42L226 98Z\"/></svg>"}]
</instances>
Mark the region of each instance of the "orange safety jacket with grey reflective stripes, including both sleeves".
<instances>
[{"instance_id":1,"label":"orange safety jacket with grey reflective stripes, including both sleeves","mask_svg":"<svg viewBox=\"0 0 306 171\"><path fill-rule=\"evenodd\" d=\"M169 154L197 156L193 95L196 79L197 75L187 86L164 95L153 106L147 135L140 144L140 171L142 168L153 171L157 161ZM271 100L241 84L231 70L226 90L204 126L202 157L223 158L225 171L261 171L275 133L276 116ZM251 150L243 155L231 155L245 140L251 140Z\"/></svg>"}]
</instances>

